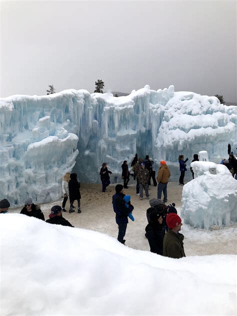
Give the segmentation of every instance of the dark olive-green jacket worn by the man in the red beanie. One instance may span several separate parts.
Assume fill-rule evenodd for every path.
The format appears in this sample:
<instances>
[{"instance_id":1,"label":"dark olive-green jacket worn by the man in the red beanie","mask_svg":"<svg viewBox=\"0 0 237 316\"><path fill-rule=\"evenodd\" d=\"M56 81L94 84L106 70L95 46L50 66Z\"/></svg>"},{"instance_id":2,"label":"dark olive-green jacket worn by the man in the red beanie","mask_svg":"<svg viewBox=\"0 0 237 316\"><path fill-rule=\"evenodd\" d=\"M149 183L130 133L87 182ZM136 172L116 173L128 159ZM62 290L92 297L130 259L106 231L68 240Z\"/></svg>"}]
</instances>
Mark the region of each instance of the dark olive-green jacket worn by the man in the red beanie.
<instances>
[{"instance_id":1,"label":"dark olive-green jacket worn by the man in the red beanie","mask_svg":"<svg viewBox=\"0 0 237 316\"><path fill-rule=\"evenodd\" d=\"M171 229L168 229L163 239L163 256L170 258L181 258L185 256L182 242L183 238L183 234L179 232L175 233Z\"/></svg>"}]
</instances>

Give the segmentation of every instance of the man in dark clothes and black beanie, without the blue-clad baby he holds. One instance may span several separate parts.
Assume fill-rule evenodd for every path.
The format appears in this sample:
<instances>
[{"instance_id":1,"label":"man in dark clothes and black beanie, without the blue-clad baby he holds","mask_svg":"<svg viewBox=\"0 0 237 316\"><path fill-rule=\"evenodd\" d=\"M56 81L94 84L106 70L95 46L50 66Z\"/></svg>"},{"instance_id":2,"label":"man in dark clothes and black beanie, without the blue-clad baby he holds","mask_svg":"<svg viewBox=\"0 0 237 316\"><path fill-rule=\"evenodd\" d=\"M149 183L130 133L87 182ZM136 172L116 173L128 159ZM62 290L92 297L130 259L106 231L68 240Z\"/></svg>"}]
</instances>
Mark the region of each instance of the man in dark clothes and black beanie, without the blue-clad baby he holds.
<instances>
[{"instance_id":1,"label":"man in dark clothes and black beanie, without the blue-clad baby he holds","mask_svg":"<svg viewBox=\"0 0 237 316\"><path fill-rule=\"evenodd\" d=\"M125 233L126 233L126 226L128 223L128 213L130 212L129 208L126 207L125 201L124 201L124 191L123 186L121 184L117 184L115 186L115 194L112 196L112 206L113 211L116 214L115 215L115 221L118 225L118 235L117 240L123 244L125 244ZM133 209L133 206L128 202L129 206ZM130 208L130 209L131 209Z\"/></svg>"}]
</instances>

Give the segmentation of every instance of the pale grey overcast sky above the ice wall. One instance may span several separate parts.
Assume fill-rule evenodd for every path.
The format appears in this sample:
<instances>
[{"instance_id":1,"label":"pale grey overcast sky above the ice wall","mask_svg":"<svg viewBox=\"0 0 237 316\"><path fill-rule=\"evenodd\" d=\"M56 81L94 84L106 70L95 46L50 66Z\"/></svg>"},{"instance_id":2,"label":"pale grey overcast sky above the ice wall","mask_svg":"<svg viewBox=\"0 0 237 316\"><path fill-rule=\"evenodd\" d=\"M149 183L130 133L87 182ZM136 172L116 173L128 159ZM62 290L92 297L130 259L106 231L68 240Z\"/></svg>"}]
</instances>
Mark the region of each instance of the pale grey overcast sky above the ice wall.
<instances>
[{"instance_id":1,"label":"pale grey overcast sky above the ice wall","mask_svg":"<svg viewBox=\"0 0 237 316\"><path fill-rule=\"evenodd\" d=\"M48 84L236 97L236 1L1 1L0 96Z\"/></svg>"}]
</instances>

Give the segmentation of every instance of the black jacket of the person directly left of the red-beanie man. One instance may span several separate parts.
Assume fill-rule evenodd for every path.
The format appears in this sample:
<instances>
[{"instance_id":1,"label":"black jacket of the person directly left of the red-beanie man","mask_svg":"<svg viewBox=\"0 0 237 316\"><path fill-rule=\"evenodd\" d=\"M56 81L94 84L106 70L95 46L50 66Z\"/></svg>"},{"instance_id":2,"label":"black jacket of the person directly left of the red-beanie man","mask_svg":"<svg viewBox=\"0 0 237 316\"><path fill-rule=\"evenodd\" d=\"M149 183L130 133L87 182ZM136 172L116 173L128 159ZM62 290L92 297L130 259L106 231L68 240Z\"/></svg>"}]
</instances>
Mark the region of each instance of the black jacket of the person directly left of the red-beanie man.
<instances>
[{"instance_id":1,"label":"black jacket of the person directly left of the red-beanie man","mask_svg":"<svg viewBox=\"0 0 237 316\"><path fill-rule=\"evenodd\" d=\"M145 227L145 236L148 239L150 252L162 255L163 253L163 233L162 225L158 222L150 221Z\"/></svg>"}]
</instances>

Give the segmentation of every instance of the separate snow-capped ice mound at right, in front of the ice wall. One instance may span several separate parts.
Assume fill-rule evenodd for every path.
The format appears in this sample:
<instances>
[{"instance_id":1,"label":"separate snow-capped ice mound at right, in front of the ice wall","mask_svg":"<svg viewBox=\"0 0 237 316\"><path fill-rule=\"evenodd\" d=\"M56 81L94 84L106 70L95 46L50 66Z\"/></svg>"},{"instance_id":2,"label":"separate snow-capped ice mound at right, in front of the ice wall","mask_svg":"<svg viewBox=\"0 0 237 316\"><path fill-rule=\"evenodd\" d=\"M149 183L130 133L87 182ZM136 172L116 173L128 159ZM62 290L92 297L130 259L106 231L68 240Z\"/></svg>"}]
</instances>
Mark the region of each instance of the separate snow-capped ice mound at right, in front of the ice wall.
<instances>
[{"instance_id":1,"label":"separate snow-capped ice mound at right, in front of the ice wall","mask_svg":"<svg viewBox=\"0 0 237 316\"><path fill-rule=\"evenodd\" d=\"M181 216L194 227L227 226L237 220L237 181L223 164L194 161L195 178L183 186ZM216 174L209 172L215 168Z\"/></svg>"}]
</instances>

